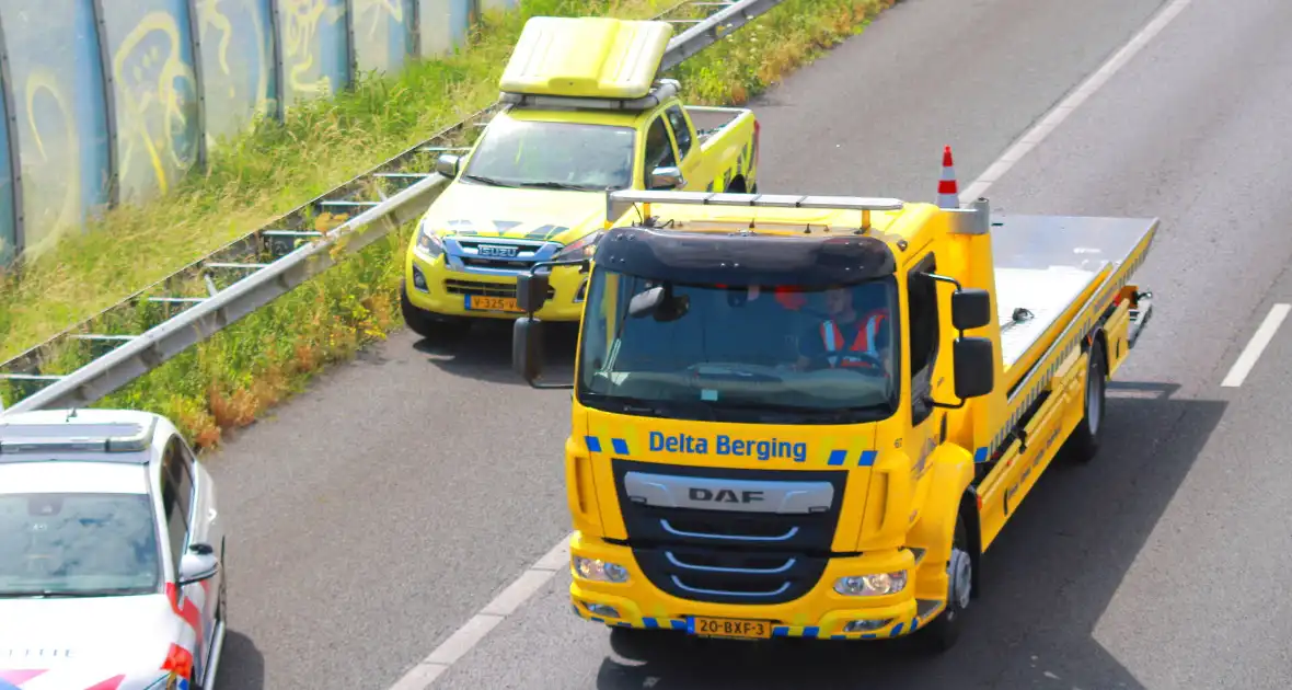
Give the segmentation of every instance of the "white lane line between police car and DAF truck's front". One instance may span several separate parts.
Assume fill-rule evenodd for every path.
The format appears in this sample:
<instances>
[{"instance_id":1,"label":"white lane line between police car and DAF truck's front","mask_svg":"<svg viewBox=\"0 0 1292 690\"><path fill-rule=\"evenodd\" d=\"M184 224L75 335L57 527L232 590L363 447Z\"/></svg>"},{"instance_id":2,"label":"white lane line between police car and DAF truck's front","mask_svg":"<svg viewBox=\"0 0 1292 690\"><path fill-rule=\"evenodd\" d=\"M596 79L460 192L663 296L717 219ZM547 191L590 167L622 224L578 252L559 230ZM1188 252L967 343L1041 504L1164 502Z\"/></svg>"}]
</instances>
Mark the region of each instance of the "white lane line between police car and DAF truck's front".
<instances>
[{"instance_id":1,"label":"white lane line between police car and DAF truck's front","mask_svg":"<svg viewBox=\"0 0 1292 690\"><path fill-rule=\"evenodd\" d=\"M570 566L570 538L572 536L574 532L561 539L556 547L552 547L552 550L543 554L543 558L535 561L519 578L499 592L494 601L484 605L466 624L453 631L434 651L408 669L402 678L390 686L390 690L425 690L430 687L435 678L479 643L503 619L516 612L535 592L543 589L543 585L548 584L548 580L557 571Z\"/></svg>"}]
</instances>

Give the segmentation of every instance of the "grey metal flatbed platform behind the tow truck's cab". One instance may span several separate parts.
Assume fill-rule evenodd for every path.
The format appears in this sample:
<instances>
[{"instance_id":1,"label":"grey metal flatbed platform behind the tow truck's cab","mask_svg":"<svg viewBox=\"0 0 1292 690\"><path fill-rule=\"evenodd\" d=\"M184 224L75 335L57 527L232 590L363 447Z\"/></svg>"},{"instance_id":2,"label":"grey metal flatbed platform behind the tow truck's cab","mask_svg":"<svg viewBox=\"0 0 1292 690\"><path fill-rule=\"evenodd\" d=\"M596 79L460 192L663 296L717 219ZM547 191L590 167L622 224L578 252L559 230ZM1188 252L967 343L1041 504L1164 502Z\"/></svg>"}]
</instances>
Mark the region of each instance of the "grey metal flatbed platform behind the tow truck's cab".
<instances>
[{"instance_id":1,"label":"grey metal flatbed platform behind the tow truck's cab","mask_svg":"<svg viewBox=\"0 0 1292 690\"><path fill-rule=\"evenodd\" d=\"M992 217L996 314L1006 389L1013 388L1094 291L1125 284L1147 255L1156 218ZM1120 287L1120 286L1119 286Z\"/></svg>"}]
</instances>

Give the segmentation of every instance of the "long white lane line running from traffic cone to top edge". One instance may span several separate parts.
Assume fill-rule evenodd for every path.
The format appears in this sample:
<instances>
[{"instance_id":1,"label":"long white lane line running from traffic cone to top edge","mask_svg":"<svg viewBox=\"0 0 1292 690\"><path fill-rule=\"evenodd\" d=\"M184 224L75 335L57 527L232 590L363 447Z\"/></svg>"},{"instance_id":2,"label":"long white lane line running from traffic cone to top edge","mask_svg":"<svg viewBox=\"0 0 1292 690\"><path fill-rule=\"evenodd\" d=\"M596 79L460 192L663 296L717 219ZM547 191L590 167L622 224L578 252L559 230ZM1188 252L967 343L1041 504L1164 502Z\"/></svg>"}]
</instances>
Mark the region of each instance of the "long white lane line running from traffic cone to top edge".
<instances>
[{"instance_id":1,"label":"long white lane line running from traffic cone to top edge","mask_svg":"<svg viewBox=\"0 0 1292 690\"><path fill-rule=\"evenodd\" d=\"M987 167L977 180L973 181L964 191L960 193L960 204L965 205L973 203L974 199L982 196L992 183L1000 180L1016 163L1023 159L1037 143L1045 141L1045 137L1050 136L1058 125L1067 119L1068 115L1076 110L1078 106L1085 102L1087 98L1099 90L1099 87L1106 84L1109 79L1118 74L1118 71L1124 67L1130 58L1136 56L1145 45L1152 40L1154 36L1162 32L1177 14L1185 10L1193 0L1172 0L1171 4L1164 6L1158 16L1152 18L1143 28L1140 30L1120 50L1112 54L1094 71L1090 76L1085 78L1075 90L1067 94L1057 106L1050 109L1049 112L1041 118L1041 121L1036 123L1031 129L1027 131L1022 137L1019 137L1013 146L1005 149L995 163Z\"/></svg>"}]
</instances>

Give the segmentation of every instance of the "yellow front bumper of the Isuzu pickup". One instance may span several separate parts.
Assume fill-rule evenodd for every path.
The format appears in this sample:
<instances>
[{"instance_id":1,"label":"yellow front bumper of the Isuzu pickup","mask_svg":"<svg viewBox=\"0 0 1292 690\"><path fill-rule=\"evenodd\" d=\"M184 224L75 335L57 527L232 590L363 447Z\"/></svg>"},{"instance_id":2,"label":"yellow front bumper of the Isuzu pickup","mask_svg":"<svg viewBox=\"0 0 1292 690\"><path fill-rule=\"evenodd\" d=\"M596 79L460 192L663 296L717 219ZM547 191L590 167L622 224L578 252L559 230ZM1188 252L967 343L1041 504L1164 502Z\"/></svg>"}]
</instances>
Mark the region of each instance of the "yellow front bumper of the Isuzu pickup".
<instances>
[{"instance_id":1,"label":"yellow front bumper of the Isuzu pickup","mask_svg":"<svg viewBox=\"0 0 1292 690\"><path fill-rule=\"evenodd\" d=\"M446 256L434 260L408 251L404 284L408 301L433 314L477 319L516 319L525 315L516 306L517 274L459 271ZM583 315L587 273L579 266L549 269L548 301L535 315L543 320L578 322Z\"/></svg>"}]
</instances>

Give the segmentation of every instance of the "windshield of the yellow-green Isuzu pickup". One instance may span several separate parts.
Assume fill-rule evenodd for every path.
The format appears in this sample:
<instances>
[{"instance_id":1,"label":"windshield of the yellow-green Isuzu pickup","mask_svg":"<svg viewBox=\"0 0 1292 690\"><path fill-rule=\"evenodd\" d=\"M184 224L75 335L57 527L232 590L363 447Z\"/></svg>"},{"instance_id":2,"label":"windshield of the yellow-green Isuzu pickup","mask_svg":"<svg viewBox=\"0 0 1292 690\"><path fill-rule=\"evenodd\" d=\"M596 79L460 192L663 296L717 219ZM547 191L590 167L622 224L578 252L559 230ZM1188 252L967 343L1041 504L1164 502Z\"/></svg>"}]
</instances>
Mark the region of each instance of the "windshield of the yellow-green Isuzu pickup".
<instances>
[{"instance_id":1,"label":"windshield of the yellow-green Isuzu pickup","mask_svg":"<svg viewBox=\"0 0 1292 690\"><path fill-rule=\"evenodd\" d=\"M481 136L463 178L509 187L627 189L636 136L627 127L497 119Z\"/></svg>"}]
</instances>

